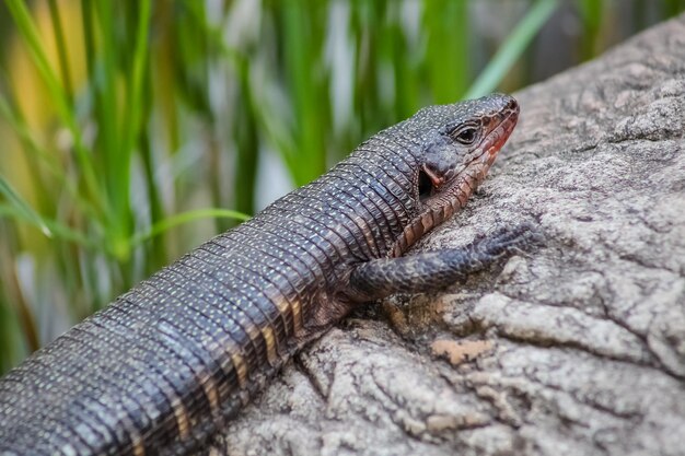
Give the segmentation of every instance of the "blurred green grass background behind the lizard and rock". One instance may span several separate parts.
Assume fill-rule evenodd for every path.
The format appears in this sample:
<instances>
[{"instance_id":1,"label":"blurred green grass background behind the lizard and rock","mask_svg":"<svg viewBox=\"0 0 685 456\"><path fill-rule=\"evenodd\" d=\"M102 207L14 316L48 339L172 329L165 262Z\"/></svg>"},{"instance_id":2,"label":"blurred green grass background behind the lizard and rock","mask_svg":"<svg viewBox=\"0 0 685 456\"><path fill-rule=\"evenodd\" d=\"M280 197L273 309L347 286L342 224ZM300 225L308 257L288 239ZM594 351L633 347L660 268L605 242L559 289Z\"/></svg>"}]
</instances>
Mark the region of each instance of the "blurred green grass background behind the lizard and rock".
<instances>
[{"instance_id":1,"label":"blurred green grass background behind the lizard and rock","mask_svg":"<svg viewBox=\"0 0 685 456\"><path fill-rule=\"evenodd\" d=\"M685 0L5 0L0 373L419 107Z\"/></svg>"}]
</instances>

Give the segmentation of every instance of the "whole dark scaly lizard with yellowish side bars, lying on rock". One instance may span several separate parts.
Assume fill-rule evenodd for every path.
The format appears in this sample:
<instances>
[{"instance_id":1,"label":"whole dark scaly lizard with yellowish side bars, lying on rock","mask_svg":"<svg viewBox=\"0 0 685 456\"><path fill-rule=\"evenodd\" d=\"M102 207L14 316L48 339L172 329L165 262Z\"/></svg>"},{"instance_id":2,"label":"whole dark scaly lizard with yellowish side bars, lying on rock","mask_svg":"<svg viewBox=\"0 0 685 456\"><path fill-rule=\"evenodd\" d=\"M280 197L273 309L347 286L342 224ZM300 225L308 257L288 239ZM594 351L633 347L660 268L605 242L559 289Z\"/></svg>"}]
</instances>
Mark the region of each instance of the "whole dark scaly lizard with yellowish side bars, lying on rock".
<instances>
[{"instance_id":1,"label":"whole dark scaly lizard with yellowish side bars, lying on rock","mask_svg":"<svg viewBox=\"0 0 685 456\"><path fill-rule=\"evenodd\" d=\"M530 230L404 256L464 207L518 118L504 94L425 107L120 295L0 379L0 456L196 454L352 308L512 252Z\"/></svg>"}]
</instances>

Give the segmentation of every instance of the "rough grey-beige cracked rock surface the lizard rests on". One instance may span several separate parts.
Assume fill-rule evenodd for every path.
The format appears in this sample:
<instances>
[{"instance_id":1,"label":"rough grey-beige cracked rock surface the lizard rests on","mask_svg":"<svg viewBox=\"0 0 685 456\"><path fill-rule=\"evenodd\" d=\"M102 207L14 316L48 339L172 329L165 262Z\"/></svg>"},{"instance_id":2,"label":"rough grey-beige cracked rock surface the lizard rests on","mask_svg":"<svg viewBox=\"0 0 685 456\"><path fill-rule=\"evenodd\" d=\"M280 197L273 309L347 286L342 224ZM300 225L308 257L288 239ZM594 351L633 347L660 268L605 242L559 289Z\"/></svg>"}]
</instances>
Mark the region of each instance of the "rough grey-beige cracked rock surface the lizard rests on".
<instances>
[{"instance_id":1,"label":"rough grey-beige cracked rock surface the lizard rests on","mask_svg":"<svg viewBox=\"0 0 685 456\"><path fill-rule=\"evenodd\" d=\"M417 249L526 221L545 245L347 319L218 453L685 454L685 16L516 96L490 177Z\"/></svg>"}]
</instances>

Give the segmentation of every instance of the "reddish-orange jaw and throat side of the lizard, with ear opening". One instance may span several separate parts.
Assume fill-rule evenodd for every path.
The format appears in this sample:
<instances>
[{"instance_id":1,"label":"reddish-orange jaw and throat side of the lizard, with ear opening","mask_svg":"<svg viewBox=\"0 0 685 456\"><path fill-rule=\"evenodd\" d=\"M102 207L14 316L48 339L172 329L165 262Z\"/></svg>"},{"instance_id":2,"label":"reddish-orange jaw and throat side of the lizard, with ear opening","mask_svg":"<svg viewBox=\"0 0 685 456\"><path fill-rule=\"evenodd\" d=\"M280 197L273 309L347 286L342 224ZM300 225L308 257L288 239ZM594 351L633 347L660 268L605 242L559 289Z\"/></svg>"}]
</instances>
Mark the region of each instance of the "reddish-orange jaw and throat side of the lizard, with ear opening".
<instances>
[{"instance_id":1,"label":"reddish-orange jaw and throat side of the lizard, with ear opening","mask_svg":"<svg viewBox=\"0 0 685 456\"><path fill-rule=\"evenodd\" d=\"M498 116L480 144L464 162L444 176L423 166L419 173L420 213L405 227L390 250L391 257L402 256L422 235L462 209L471 194L485 179L502 145L516 126L519 109L514 107Z\"/></svg>"}]
</instances>

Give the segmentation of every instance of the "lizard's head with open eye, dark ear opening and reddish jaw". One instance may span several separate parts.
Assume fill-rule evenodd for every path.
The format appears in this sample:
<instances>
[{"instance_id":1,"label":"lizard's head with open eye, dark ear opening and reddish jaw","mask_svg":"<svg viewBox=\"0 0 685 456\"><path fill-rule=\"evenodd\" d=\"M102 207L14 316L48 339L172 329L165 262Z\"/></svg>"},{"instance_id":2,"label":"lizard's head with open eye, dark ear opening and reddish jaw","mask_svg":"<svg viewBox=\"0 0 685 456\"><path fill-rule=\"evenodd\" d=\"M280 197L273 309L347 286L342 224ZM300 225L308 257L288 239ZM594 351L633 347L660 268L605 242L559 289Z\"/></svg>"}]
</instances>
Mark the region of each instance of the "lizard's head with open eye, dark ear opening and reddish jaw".
<instances>
[{"instance_id":1,"label":"lizard's head with open eye, dark ear opening and reddish jaw","mask_svg":"<svg viewBox=\"0 0 685 456\"><path fill-rule=\"evenodd\" d=\"M425 233L461 209L483 182L519 118L519 104L503 94L429 106L403 129L416 145L413 175L418 212L391 252L402 255Z\"/></svg>"}]
</instances>

